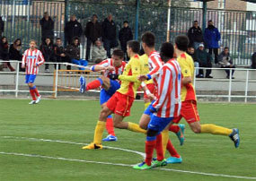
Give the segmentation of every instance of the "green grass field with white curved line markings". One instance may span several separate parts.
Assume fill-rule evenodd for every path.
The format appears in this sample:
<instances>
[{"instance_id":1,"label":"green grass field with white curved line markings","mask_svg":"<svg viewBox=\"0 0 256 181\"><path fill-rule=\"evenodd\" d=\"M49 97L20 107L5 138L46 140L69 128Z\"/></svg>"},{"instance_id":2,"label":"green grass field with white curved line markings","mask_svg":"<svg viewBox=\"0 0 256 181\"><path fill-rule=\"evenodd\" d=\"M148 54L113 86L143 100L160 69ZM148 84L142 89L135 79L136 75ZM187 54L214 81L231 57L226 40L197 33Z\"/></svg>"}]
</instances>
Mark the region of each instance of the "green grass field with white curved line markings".
<instances>
[{"instance_id":1,"label":"green grass field with white curved line markings","mask_svg":"<svg viewBox=\"0 0 256 181\"><path fill-rule=\"evenodd\" d=\"M165 170L141 171L131 168L142 161L141 155L131 151L144 152L143 134L116 129L119 141L103 144L129 151L81 149L83 143L93 141L100 112L98 101L42 100L39 105L28 102L0 99L1 181L256 179L256 105L199 104L202 124L240 129L240 147L235 149L226 136L193 134L182 120L186 124L184 145L179 145L175 134L170 133L170 137L183 162L168 165ZM143 108L143 102L135 102L125 121L137 123Z\"/></svg>"}]
</instances>

